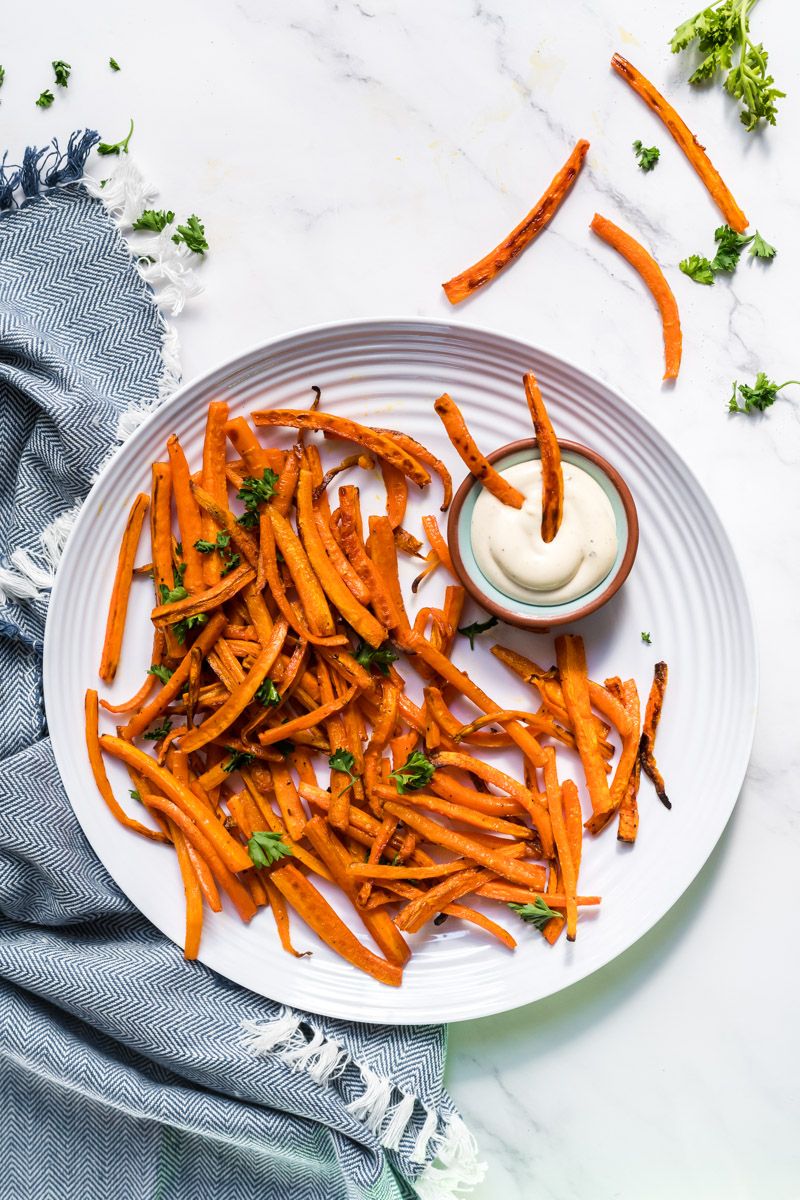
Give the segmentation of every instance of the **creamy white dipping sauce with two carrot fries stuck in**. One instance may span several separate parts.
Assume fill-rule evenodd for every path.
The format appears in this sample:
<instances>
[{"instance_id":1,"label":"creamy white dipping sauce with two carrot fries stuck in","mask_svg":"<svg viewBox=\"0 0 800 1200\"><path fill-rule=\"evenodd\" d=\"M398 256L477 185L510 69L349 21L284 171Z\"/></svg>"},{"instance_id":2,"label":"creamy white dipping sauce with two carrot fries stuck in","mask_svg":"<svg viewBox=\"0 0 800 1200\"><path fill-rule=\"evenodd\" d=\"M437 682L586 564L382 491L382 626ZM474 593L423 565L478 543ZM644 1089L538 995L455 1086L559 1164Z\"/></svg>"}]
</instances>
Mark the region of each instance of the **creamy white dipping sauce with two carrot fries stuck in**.
<instances>
[{"instance_id":1,"label":"creamy white dipping sauce with two carrot fries stuck in","mask_svg":"<svg viewBox=\"0 0 800 1200\"><path fill-rule=\"evenodd\" d=\"M576 600L601 583L616 558L616 521L600 484L581 467L561 463L564 518L542 541L542 464L539 458L500 472L525 497L521 509L482 488L473 511L473 552L498 590L529 604Z\"/></svg>"}]
</instances>

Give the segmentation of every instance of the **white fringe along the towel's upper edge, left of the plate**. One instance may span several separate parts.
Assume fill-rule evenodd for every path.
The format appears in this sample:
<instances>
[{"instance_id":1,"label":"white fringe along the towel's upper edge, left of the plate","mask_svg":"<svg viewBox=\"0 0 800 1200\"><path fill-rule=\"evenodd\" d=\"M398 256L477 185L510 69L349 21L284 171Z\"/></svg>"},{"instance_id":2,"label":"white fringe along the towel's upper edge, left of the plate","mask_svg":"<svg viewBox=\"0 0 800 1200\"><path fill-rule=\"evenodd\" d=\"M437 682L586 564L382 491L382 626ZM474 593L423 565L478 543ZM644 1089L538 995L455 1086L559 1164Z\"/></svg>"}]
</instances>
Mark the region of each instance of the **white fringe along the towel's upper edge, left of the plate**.
<instances>
[{"instance_id":1,"label":"white fringe along the towel's upper edge, left of the plate","mask_svg":"<svg viewBox=\"0 0 800 1200\"><path fill-rule=\"evenodd\" d=\"M120 414L115 434L116 443L101 463L97 475L118 449L144 421L156 412L162 401L170 396L181 382L180 342L174 325L166 319L178 317L184 305L201 292L201 286L192 269L197 256L184 245L172 240L170 227L162 234L136 234L132 224L157 194L127 155L120 157L103 187L98 180L84 176L83 182L90 196L103 202L120 233L125 236L137 270L155 293L163 324L161 347L162 374L155 396L131 404ZM152 262L150 262L152 259ZM95 476L97 478L97 476ZM80 503L61 512L47 526L40 536L41 550L31 554L16 550L10 556L10 565L0 566L0 605L8 600L35 600L48 592L55 581L55 571L61 552L72 532Z\"/></svg>"}]
</instances>

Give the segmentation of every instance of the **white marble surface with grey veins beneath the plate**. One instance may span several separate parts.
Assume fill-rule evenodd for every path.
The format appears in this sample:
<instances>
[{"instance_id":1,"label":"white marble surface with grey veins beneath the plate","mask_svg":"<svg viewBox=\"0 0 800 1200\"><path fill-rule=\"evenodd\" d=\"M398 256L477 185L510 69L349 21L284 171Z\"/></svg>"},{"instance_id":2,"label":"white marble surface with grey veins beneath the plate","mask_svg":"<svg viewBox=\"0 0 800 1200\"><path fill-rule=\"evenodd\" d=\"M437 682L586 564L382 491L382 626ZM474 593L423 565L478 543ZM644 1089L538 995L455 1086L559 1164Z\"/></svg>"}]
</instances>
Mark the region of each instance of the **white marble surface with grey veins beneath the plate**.
<instances>
[{"instance_id":1,"label":"white marble surface with grey veins beneath the plate","mask_svg":"<svg viewBox=\"0 0 800 1200\"><path fill-rule=\"evenodd\" d=\"M763 666L739 805L694 886L620 960L566 994L451 1030L449 1082L491 1166L477 1200L800 1195L800 392L764 420L726 415L734 377L800 374L800 11L754 14L789 91L764 137L740 128L718 89L686 86L666 47L686 14L656 0L38 0L14 6L4 29L0 143L12 158L84 124L116 140L132 114L162 203L205 220L206 290L181 322L187 377L337 318L495 326L640 406L700 475L738 548ZM678 101L778 246L768 269L742 260L714 288L679 274L685 254L711 250L717 212L609 71L614 49ZM40 112L53 58L73 74ZM588 170L551 230L451 310L440 280L518 221L579 136L591 140ZM636 168L637 137L662 149L651 175ZM667 266L685 328L674 389L660 384L650 300L588 230L595 209Z\"/></svg>"}]
</instances>

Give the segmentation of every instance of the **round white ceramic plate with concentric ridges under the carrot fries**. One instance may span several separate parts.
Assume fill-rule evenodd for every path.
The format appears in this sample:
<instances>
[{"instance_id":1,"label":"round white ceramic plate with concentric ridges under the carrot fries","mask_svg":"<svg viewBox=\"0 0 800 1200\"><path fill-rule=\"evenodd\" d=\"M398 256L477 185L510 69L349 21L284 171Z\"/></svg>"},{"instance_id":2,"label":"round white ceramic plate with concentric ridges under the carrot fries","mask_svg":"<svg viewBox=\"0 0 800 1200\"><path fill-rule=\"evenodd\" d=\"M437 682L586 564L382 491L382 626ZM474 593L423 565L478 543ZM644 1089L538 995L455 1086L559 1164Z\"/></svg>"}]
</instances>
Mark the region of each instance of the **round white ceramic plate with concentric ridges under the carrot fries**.
<instances>
[{"instance_id":1,"label":"round white ceramic plate with concentric ridges under the carrot fries","mask_svg":"<svg viewBox=\"0 0 800 1200\"><path fill-rule=\"evenodd\" d=\"M739 568L697 480L640 413L542 350L461 325L375 320L277 338L188 384L131 438L92 488L59 570L44 647L50 734L78 820L121 889L180 943L184 898L173 852L114 822L97 796L83 740L83 694L97 683L125 515L134 493L149 487L150 463L163 456L168 434L178 432L190 461L198 463L211 398L225 397L231 414L307 407L318 384L327 412L407 430L449 462L458 482L463 469L433 401L450 391L479 444L493 449L530 436L521 384L529 368L559 433L594 446L618 467L638 506L640 546L631 577L579 630L594 678L632 674L646 695L654 662L668 661L658 761L673 810L667 812L643 780L636 846L618 844L613 828L587 840L581 890L602 895L603 902L599 911L584 911L573 944L561 940L551 948L509 910L494 906L518 938L516 953L450 919L413 938L415 953L399 990L336 958L300 920L293 923L295 943L314 953L296 960L281 950L269 912L248 928L228 910L209 914L203 961L255 992L333 1016L397 1024L458 1021L539 1000L596 971L646 932L694 878L730 815L752 740L756 649ZM325 454L332 458L339 449L333 444ZM378 474L374 486L362 485L362 498L375 511L381 508ZM413 498L408 527L415 529L419 516L437 512L439 503L434 480L425 496ZM414 571L407 566L409 582ZM446 582L440 571L423 586L419 602L438 602ZM151 599L146 583L134 586L115 698L136 690L149 662ZM467 620L479 617L467 610ZM643 644L642 630L651 632L651 646ZM504 707L530 704L525 686L489 654L495 635L545 665L553 659L552 640L500 628L470 653L457 638L456 662ZM498 762L503 766L503 756ZM127 798L125 772L110 763L109 774L116 794Z\"/></svg>"}]
</instances>

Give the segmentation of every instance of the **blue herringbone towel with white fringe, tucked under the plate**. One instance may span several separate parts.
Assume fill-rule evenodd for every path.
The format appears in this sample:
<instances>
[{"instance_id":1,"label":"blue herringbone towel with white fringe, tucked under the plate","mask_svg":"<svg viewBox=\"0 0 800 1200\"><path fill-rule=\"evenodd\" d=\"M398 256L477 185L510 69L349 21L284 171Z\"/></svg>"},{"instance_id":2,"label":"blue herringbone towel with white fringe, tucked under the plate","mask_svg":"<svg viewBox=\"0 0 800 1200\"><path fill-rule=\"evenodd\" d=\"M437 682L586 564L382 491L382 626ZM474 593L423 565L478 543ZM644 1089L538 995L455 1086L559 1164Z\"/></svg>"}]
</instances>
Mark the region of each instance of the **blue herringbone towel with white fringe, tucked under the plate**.
<instances>
[{"instance_id":1,"label":"blue herringbone towel with white fringe, tucked under the plate","mask_svg":"<svg viewBox=\"0 0 800 1200\"><path fill-rule=\"evenodd\" d=\"M452 1196L480 1168L443 1092L445 1031L287 1012L185 962L61 787L48 584L70 512L175 382L145 280L173 310L191 287L166 239L143 278L120 224L149 197L127 161L90 194L95 140L0 173L0 1196Z\"/></svg>"}]
</instances>

